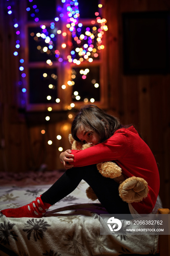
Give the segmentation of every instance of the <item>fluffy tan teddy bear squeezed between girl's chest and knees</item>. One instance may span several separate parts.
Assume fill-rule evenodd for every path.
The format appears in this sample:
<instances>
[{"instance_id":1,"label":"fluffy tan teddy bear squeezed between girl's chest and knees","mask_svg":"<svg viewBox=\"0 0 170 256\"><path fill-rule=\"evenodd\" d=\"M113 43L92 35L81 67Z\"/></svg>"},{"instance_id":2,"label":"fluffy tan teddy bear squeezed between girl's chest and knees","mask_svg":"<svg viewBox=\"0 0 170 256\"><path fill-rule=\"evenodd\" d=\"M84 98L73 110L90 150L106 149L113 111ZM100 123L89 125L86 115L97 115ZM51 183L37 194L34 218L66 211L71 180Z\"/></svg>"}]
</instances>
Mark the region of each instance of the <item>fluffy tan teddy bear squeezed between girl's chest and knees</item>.
<instances>
[{"instance_id":1,"label":"fluffy tan teddy bear squeezed between girl's chest and knees","mask_svg":"<svg viewBox=\"0 0 170 256\"><path fill-rule=\"evenodd\" d=\"M73 139L72 135L69 134L69 142L72 145L72 149L84 150L89 148L89 144L84 144ZM125 179L121 168L112 161L97 163L97 170L104 177L113 178L119 185L119 196L121 199L127 203L140 202L143 198L147 197L148 185L147 182L140 177L132 176ZM92 201L97 199L91 187L86 189L86 196Z\"/></svg>"}]
</instances>

